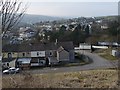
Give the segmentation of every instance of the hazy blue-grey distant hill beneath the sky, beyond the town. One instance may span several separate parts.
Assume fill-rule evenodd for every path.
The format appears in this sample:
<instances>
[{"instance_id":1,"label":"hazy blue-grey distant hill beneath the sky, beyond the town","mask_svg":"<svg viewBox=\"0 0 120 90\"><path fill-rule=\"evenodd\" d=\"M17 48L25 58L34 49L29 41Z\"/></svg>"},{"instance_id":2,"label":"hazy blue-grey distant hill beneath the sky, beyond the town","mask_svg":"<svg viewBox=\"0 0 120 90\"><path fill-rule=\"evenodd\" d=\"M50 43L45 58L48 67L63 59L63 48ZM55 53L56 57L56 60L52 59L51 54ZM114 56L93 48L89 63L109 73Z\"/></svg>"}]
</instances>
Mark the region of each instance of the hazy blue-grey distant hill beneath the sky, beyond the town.
<instances>
[{"instance_id":1,"label":"hazy blue-grey distant hill beneath the sky, beyond the town","mask_svg":"<svg viewBox=\"0 0 120 90\"><path fill-rule=\"evenodd\" d=\"M40 21L54 21L54 20L61 20L63 18L60 17L52 17L52 16L44 16L44 15L32 15L32 14L25 14L22 19L24 23L37 23Z\"/></svg>"}]
</instances>

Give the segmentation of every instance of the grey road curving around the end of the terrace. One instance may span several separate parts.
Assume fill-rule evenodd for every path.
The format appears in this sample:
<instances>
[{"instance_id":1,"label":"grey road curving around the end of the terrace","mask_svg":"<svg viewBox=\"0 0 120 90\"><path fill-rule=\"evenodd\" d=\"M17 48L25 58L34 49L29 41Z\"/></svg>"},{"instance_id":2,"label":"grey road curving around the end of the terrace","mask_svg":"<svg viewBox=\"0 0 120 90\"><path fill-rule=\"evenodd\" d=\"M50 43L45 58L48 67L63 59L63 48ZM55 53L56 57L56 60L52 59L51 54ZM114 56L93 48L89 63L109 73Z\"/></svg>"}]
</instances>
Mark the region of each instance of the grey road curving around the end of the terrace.
<instances>
[{"instance_id":1,"label":"grey road curving around the end of the terrace","mask_svg":"<svg viewBox=\"0 0 120 90\"><path fill-rule=\"evenodd\" d=\"M79 53L83 53L93 60L93 63L83 65L83 66L72 66L72 67L47 67L43 69L35 69L28 70L32 74L43 74L43 73L58 73L58 72L74 72L74 71L82 71L82 70L95 70L95 69L106 69L117 66L115 63L111 63L109 60L106 60L95 53L90 53L88 51L78 51Z\"/></svg>"}]
</instances>

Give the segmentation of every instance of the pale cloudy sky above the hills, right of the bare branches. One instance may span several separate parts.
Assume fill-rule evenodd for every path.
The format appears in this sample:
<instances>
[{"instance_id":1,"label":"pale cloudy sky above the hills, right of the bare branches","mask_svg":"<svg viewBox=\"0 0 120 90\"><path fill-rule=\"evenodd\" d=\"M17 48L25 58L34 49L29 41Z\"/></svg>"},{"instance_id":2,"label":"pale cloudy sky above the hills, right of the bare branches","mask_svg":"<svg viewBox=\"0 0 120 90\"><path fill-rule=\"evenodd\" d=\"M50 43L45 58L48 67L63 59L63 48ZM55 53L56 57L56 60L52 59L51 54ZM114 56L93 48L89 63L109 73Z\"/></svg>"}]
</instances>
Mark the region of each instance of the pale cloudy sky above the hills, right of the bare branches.
<instances>
[{"instance_id":1,"label":"pale cloudy sky above the hills, right of the bare branches","mask_svg":"<svg viewBox=\"0 0 120 90\"><path fill-rule=\"evenodd\" d=\"M27 14L59 17L94 17L118 14L119 0L23 0Z\"/></svg>"}]
</instances>

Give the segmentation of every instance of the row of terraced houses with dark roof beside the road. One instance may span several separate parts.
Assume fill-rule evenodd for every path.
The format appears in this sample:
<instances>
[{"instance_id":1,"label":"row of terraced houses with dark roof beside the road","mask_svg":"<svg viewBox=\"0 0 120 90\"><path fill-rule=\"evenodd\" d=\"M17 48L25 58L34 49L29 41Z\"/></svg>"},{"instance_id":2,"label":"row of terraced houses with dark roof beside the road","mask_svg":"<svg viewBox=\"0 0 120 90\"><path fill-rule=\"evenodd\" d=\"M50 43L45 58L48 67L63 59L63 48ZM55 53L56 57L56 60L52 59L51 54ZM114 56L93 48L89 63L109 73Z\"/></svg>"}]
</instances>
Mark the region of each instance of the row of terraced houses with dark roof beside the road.
<instances>
[{"instance_id":1,"label":"row of terraced houses with dark roof beside the road","mask_svg":"<svg viewBox=\"0 0 120 90\"><path fill-rule=\"evenodd\" d=\"M74 62L74 46L72 42L5 45L2 52L2 61L7 61L7 63L15 61L17 67Z\"/></svg>"}]
</instances>

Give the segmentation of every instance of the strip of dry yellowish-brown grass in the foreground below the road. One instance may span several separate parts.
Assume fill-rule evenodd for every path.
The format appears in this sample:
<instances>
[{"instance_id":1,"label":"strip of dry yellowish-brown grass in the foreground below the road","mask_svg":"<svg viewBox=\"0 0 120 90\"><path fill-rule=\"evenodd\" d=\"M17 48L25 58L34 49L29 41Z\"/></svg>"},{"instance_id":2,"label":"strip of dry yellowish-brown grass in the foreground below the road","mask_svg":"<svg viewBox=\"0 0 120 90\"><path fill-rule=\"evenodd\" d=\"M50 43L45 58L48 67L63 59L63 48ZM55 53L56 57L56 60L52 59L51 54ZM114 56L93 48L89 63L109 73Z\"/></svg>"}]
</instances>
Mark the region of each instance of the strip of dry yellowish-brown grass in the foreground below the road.
<instances>
[{"instance_id":1,"label":"strip of dry yellowish-brown grass in the foreground below the road","mask_svg":"<svg viewBox=\"0 0 120 90\"><path fill-rule=\"evenodd\" d=\"M114 88L116 70L91 70L70 73L4 76L3 88Z\"/></svg>"}]
</instances>

